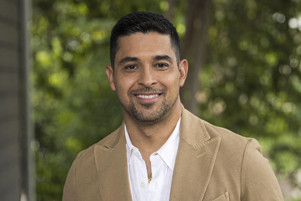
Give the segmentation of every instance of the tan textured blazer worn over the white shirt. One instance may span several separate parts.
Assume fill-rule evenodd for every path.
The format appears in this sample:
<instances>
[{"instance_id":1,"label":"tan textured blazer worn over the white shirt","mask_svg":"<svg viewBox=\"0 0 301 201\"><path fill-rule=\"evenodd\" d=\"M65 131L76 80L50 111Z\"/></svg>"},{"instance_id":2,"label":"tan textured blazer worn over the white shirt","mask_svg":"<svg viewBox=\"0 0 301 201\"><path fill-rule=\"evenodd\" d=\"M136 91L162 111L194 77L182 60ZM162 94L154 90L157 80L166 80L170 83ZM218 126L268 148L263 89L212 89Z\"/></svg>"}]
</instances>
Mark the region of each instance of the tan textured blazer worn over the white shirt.
<instances>
[{"instance_id":1,"label":"tan textured blazer worn over the white shirt","mask_svg":"<svg viewBox=\"0 0 301 201\"><path fill-rule=\"evenodd\" d=\"M80 152L63 201L131 200L124 122ZM182 108L170 201L283 200L277 179L255 139L205 122Z\"/></svg>"}]
</instances>

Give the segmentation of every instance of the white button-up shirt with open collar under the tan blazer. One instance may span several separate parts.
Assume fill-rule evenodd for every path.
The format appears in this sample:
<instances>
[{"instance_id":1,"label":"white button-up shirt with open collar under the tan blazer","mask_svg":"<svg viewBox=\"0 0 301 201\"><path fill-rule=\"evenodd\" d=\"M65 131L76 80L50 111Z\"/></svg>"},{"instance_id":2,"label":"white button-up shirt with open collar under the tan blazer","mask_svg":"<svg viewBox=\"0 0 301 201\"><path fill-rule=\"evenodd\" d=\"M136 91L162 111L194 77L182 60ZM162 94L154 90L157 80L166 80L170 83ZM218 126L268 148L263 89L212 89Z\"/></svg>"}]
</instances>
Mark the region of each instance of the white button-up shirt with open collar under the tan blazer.
<instances>
[{"instance_id":1,"label":"white button-up shirt with open collar under the tan blazer","mask_svg":"<svg viewBox=\"0 0 301 201\"><path fill-rule=\"evenodd\" d=\"M181 117L165 144L149 157L152 168L152 180L149 183L146 164L140 151L132 145L126 125L124 125L127 170L132 201L169 200L175 157L180 139L180 120Z\"/></svg>"}]
</instances>

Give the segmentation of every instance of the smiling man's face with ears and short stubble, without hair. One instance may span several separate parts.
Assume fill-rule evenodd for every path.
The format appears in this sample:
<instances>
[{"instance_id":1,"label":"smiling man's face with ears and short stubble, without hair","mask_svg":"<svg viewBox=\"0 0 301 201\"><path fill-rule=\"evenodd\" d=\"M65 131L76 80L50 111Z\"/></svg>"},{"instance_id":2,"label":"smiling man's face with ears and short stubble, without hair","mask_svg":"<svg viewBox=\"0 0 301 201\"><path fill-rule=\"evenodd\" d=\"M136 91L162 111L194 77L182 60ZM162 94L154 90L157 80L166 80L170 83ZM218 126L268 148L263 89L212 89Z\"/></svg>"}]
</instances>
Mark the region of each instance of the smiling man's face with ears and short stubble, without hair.
<instances>
[{"instance_id":1,"label":"smiling man's face with ears and short stubble, without hair","mask_svg":"<svg viewBox=\"0 0 301 201\"><path fill-rule=\"evenodd\" d=\"M138 121L159 120L180 101L184 84L169 35L136 33L118 45L114 73L109 65L106 73L123 111Z\"/></svg>"}]
</instances>

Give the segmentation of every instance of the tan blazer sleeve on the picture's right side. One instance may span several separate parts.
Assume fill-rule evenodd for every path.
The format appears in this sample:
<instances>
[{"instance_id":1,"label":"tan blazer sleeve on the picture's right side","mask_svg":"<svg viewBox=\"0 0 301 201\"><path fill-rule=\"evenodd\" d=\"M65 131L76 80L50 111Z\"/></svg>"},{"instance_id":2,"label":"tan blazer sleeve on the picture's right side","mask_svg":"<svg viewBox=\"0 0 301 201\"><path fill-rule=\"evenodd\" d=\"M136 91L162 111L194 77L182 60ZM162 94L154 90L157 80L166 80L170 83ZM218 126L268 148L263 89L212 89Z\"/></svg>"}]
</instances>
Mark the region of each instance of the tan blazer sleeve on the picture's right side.
<instances>
[{"instance_id":1,"label":"tan blazer sleeve on the picture's right side","mask_svg":"<svg viewBox=\"0 0 301 201\"><path fill-rule=\"evenodd\" d=\"M241 168L242 201L283 201L277 178L259 143L250 138L246 144Z\"/></svg>"}]
</instances>

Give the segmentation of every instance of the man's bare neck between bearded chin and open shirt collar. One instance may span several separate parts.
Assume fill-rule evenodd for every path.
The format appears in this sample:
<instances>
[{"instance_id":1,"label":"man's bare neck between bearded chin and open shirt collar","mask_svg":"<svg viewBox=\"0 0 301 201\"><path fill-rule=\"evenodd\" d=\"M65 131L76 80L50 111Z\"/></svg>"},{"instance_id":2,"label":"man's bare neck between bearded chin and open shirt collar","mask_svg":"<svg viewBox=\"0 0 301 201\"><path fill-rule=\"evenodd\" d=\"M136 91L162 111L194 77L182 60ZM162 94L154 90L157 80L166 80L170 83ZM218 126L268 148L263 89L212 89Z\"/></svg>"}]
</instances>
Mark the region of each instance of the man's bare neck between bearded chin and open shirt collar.
<instances>
[{"instance_id":1,"label":"man's bare neck between bearded chin and open shirt collar","mask_svg":"<svg viewBox=\"0 0 301 201\"><path fill-rule=\"evenodd\" d=\"M181 112L180 99L164 117L155 122L139 122L124 111L124 121L132 144L140 152L152 154L157 151L174 131Z\"/></svg>"}]
</instances>

